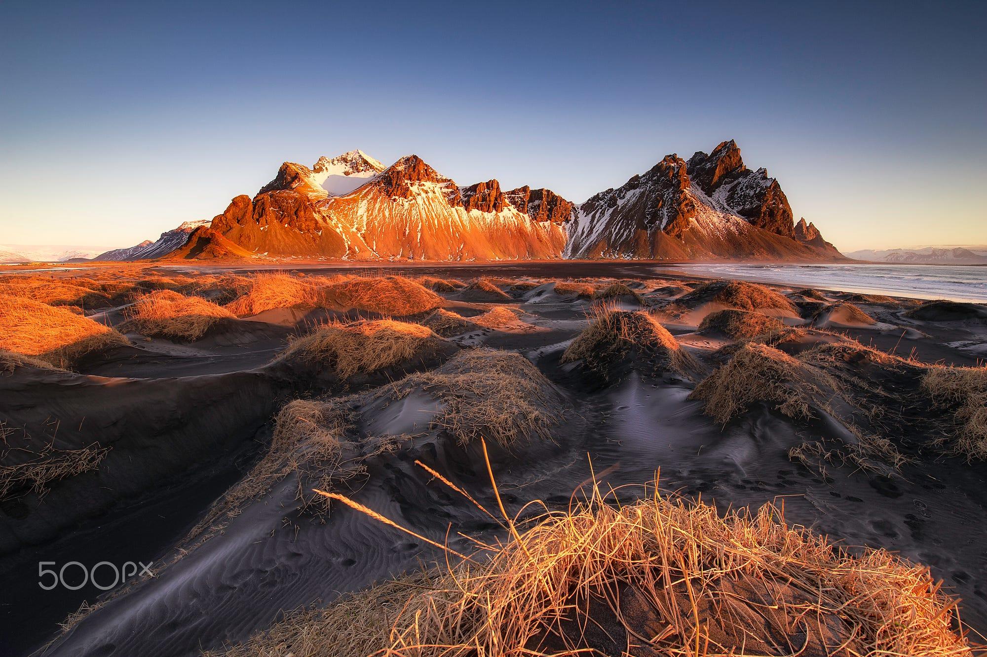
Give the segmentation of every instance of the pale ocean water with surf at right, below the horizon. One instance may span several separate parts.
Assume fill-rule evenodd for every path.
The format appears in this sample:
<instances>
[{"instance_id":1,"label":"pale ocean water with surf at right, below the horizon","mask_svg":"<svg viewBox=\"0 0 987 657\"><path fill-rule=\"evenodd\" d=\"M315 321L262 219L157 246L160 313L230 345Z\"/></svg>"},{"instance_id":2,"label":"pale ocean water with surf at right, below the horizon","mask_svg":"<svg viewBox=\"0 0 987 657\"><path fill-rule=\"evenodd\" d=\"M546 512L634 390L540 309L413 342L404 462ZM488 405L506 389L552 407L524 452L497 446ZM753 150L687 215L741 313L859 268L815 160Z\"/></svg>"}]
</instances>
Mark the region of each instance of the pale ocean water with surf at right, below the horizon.
<instances>
[{"instance_id":1,"label":"pale ocean water with surf at right, below the horizon","mask_svg":"<svg viewBox=\"0 0 987 657\"><path fill-rule=\"evenodd\" d=\"M717 278L817 287L914 299L987 302L987 266L952 264L675 264Z\"/></svg>"}]
</instances>

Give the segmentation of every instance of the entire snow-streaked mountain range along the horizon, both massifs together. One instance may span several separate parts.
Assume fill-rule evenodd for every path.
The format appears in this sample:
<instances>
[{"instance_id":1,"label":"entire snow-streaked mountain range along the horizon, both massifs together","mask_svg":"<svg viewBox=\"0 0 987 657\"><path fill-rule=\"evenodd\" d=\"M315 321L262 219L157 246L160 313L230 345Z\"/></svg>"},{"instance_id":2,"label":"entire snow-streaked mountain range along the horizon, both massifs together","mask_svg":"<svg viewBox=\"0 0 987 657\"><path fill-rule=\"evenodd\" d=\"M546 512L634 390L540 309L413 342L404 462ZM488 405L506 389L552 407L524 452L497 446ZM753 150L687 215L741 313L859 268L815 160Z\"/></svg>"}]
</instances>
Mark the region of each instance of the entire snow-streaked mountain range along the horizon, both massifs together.
<instances>
[{"instance_id":1,"label":"entire snow-streaked mountain range along the horizon, both massifs together","mask_svg":"<svg viewBox=\"0 0 987 657\"><path fill-rule=\"evenodd\" d=\"M299 257L352 260L659 258L819 260L843 256L796 223L781 185L731 141L668 155L580 205L551 189L459 185L418 156L390 167L362 151L286 162L253 197L99 259Z\"/></svg>"}]
</instances>

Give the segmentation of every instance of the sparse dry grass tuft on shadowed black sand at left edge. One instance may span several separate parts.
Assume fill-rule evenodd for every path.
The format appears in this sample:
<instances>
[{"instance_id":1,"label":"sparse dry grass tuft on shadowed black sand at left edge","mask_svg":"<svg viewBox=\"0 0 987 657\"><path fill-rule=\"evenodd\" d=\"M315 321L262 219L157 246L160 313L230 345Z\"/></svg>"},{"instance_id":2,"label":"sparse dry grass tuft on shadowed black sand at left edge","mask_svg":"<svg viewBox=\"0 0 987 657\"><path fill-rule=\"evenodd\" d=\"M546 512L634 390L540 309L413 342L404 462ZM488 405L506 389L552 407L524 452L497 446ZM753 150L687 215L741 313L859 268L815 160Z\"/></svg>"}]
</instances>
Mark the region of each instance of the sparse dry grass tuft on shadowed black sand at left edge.
<instances>
[{"instance_id":1,"label":"sparse dry grass tuft on shadowed black sand at left edge","mask_svg":"<svg viewBox=\"0 0 987 657\"><path fill-rule=\"evenodd\" d=\"M6 459L11 452L4 451L0 456ZM29 452L27 461L0 466L0 501L29 490L43 497L49 483L98 469L109 452L109 447L98 443L78 450L59 450L47 444L37 453Z\"/></svg>"}]
</instances>

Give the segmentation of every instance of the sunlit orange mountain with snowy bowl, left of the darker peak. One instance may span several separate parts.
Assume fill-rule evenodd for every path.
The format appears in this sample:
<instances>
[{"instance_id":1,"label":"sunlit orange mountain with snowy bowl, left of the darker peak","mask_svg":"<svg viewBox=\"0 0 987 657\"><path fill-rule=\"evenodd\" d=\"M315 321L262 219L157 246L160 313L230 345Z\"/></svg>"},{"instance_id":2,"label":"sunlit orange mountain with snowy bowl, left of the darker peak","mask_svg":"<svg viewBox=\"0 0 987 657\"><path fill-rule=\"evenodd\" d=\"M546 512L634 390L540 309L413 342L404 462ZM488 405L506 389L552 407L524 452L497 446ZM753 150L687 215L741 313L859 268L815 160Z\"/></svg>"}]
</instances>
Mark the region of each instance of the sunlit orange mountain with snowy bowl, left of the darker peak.
<instances>
[{"instance_id":1,"label":"sunlit orange mountain with snowy bowl, left of the darker peak","mask_svg":"<svg viewBox=\"0 0 987 657\"><path fill-rule=\"evenodd\" d=\"M461 260L562 254L572 206L551 190L502 191L496 181L459 187L415 155L370 177L379 163L354 153L361 162L351 173L327 175L339 172L341 158L352 161L353 153L322 158L313 169L284 163L254 198L234 198L212 229L253 254L271 256ZM325 186L334 176L357 179L336 181L335 189L359 186L337 195Z\"/></svg>"}]
</instances>

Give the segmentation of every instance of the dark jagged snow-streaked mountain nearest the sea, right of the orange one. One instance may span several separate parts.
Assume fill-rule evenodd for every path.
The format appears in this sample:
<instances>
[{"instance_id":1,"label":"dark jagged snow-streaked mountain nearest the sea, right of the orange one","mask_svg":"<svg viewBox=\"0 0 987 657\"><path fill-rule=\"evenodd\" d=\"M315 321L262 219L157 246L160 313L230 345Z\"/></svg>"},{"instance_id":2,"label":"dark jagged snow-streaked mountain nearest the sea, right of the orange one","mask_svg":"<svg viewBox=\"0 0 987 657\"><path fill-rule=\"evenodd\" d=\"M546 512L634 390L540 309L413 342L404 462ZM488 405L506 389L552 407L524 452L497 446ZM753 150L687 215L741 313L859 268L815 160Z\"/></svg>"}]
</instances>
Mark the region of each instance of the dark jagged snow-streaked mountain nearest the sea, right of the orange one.
<instances>
[{"instance_id":1,"label":"dark jagged snow-streaked mountain nearest the sea, right of the orange one","mask_svg":"<svg viewBox=\"0 0 987 657\"><path fill-rule=\"evenodd\" d=\"M667 155L645 174L578 207L567 257L820 259L842 257L815 226L793 221L778 181L743 164L732 140L688 162Z\"/></svg>"}]
</instances>

